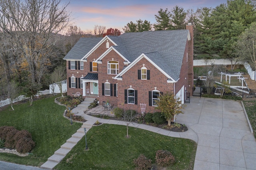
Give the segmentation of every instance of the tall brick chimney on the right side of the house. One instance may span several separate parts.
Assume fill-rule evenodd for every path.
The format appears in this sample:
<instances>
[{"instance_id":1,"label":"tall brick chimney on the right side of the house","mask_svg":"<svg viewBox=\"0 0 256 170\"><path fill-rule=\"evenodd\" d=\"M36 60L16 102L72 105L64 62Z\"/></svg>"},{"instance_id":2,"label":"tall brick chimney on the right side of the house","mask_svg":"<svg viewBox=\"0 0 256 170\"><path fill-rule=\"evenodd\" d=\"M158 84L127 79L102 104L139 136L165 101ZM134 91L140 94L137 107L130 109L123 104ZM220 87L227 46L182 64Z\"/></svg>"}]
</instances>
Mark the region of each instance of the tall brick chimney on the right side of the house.
<instances>
[{"instance_id":1,"label":"tall brick chimney on the right side of the house","mask_svg":"<svg viewBox=\"0 0 256 170\"><path fill-rule=\"evenodd\" d=\"M194 71L193 71L193 60L194 60L194 25L188 23L186 29L190 33L190 41L188 41L188 87L187 91L190 92L190 96L193 94L194 86Z\"/></svg>"}]
</instances>

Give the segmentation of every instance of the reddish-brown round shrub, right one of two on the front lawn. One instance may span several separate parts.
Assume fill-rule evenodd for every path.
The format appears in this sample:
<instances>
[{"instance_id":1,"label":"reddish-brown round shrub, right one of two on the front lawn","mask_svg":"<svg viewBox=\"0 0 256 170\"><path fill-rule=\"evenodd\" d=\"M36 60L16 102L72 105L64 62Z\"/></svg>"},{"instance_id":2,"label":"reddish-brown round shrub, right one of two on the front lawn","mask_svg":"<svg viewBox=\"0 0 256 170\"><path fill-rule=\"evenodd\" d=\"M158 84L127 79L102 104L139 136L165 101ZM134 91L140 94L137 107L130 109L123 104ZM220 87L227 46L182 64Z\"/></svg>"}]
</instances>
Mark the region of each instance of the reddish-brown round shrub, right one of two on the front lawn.
<instances>
[{"instance_id":1,"label":"reddish-brown round shrub, right one of two on the front lawn","mask_svg":"<svg viewBox=\"0 0 256 170\"><path fill-rule=\"evenodd\" d=\"M166 167L174 164L175 158L168 150L156 151L156 163L160 167Z\"/></svg>"}]
</instances>

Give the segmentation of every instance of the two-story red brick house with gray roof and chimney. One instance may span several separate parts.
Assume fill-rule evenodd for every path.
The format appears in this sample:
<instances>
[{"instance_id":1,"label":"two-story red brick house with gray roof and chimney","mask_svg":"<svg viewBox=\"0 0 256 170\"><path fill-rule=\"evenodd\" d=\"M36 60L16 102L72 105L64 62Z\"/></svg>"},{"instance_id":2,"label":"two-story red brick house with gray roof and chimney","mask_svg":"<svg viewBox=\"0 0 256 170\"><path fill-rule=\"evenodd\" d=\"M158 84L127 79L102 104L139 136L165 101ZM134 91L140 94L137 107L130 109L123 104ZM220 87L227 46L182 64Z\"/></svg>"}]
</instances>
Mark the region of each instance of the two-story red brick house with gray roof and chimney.
<instances>
[{"instance_id":1,"label":"two-story red brick house with gray roof and chimney","mask_svg":"<svg viewBox=\"0 0 256 170\"><path fill-rule=\"evenodd\" d=\"M81 38L64 57L68 95L97 96L100 103L155 112L158 96L185 100L193 86L193 25L185 30L144 31ZM86 92L86 90L89 90Z\"/></svg>"}]
</instances>

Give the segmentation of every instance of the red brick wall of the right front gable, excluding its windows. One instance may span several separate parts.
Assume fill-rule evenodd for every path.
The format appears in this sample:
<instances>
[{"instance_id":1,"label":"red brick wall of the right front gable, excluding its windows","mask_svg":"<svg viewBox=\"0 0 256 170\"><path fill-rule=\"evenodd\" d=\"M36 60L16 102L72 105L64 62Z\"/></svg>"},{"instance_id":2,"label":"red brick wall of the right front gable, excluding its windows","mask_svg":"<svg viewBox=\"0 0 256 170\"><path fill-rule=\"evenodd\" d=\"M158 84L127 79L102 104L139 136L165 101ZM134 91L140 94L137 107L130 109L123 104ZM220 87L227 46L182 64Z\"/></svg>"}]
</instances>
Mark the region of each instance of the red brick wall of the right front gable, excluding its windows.
<instances>
[{"instance_id":1,"label":"red brick wall of the right front gable, excluding its windows","mask_svg":"<svg viewBox=\"0 0 256 170\"><path fill-rule=\"evenodd\" d=\"M143 64L150 70L150 80L138 80L138 70L143 67ZM124 90L130 88L138 90L138 104L124 104ZM148 60L142 58L132 68L130 68L122 76L122 80L118 81L118 107L123 109L133 109L141 112L140 103L146 104L146 113L156 112L154 106L149 106L148 92L152 90L159 90L160 92L173 92L173 84L167 83L167 77L160 72Z\"/></svg>"}]
</instances>

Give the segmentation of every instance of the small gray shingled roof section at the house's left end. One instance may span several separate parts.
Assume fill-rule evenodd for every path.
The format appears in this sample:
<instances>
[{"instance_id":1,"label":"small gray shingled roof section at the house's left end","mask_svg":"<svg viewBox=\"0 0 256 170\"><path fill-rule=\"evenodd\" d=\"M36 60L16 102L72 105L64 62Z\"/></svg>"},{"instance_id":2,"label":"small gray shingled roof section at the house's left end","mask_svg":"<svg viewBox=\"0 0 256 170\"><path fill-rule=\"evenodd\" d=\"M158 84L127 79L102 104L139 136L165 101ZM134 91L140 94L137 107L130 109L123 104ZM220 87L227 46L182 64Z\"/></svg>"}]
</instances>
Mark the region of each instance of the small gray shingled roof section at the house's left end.
<instances>
[{"instance_id":1,"label":"small gray shingled roof section at the house's left end","mask_svg":"<svg viewBox=\"0 0 256 170\"><path fill-rule=\"evenodd\" d=\"M63 58L64 60L79 60L82 59L98 42L102 40L102 37L97 38L80 38L74 47Z\"/></svg>"}]
</instances>

